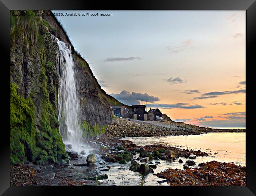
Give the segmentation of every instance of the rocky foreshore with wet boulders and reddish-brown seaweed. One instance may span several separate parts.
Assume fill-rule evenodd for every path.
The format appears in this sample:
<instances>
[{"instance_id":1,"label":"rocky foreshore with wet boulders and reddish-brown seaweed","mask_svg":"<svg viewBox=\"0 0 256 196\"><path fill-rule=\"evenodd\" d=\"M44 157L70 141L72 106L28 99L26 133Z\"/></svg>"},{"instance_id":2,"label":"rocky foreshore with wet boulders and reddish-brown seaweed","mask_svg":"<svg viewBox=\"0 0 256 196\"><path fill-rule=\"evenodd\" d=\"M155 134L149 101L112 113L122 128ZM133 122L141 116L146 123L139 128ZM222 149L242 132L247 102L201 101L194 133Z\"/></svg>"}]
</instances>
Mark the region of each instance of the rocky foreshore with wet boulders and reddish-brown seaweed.
<instances>
[{"instance_id":1,"label":"rocky foreshore with wet boulders and reddish-brown seaweed","mask_svg":"<svg viewBox=\"0 0 256 196\"><path fill-rule=\"evenodd\" d=\"M124 162L127 162L124 164L126 169L123 170L123 172L132 171L135 176L138 174L141 175L141 182L138 185L143 185L145 178L148 178L147 176L159 178L158 185L163 183L161 178L164 178L164 181L170 186L246 185L246 167L217 161L195 165L195 163L193 163L195 159L191 157L211 155L199 150L181 149L162 144L140 146L129 140L109 139L104 135L94 140L84 140L84 142L87 143L90 148L97 149L89 152L96 154L97 160L94 165L86 165L86 157L88 154L84 156L78 154L77 158L70 158L69 163L59 165L39 166L33 165L32 163L24 166L11 165L10 185L113 186L115 182L108 180L108 175L111 175L111 172L115 172L116 169L113 167L113 164L119 164L121 162L121 160L119 160L120 157L125 160L123 160ZM72 150L67 150L67 152L70 155ZM184 162L181 161L181 158ZM176 162L176 164L183 165L184 169L168 169L166 166L167 168L164 171L155 173L154 169L160 167L158 164L164 164L165 162ZM119 166L121 169L122 164L119 164ZM221 173L221 171L218 172L215 167L223 168L223 171L228 171L228 174L232 174L233 177L229 175L230 177L227 178L224 173ZM197 176L199 173L203 175ZM187 176L185 180L182 180L179 177L180 175ZM236 177L234 176L238 176L239 180L236 181ZM126 185L129 185L129 183Z\"/></svg>"}]
</instances>

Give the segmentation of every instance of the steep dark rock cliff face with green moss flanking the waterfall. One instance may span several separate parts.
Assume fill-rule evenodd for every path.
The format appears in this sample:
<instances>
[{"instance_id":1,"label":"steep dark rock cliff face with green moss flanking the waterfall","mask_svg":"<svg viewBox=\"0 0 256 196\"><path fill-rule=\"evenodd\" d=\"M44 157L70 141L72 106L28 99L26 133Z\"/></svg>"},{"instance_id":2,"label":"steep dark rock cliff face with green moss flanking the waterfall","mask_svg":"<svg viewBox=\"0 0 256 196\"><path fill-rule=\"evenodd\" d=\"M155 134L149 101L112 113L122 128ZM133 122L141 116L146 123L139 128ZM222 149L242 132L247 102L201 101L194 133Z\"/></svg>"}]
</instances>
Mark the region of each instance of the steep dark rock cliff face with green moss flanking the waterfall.
<instances>
[{"instance_id":1,"label":"steep dark rock cliff face with green moss flanking the waterfall","mask_svg":"<svg viewBox=\"0 0 256 196\"><path fill-rule=\"evenodd\" d=\"M11 11L10 15L11 163L41 164L67 158L57 120L60 75L55 37L69 44L70 41L54 16L39 13L51 12ZM111 122L109 100L113 98L100 88L89 65L74 47L72 55L81 126L84 136L94 136L106 131Z\"/></svg>"}]
</instances>

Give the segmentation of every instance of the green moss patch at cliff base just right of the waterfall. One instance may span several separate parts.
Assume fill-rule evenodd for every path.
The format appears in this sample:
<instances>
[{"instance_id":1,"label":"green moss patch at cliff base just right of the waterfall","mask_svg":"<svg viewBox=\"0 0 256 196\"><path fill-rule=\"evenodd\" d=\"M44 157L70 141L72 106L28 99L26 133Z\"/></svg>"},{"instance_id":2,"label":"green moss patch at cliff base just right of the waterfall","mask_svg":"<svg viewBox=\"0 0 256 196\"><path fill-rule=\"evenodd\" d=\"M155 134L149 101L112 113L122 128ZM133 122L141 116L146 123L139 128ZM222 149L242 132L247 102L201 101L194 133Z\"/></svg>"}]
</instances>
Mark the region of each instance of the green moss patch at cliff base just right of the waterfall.
<instances>
[{"instance_id":1,"label":"green moss patch at cliff base just right of the waterfall","mask_svg":"<svg viewBox=\"0 0 256 196\"><path fill-rule=\"evenodd\" d=\"M83 137L92 138L106 132L107 126L99 127L98 124L95 126L89 125L86 121L82 123Z\"/></svg>"}]
</instances>

